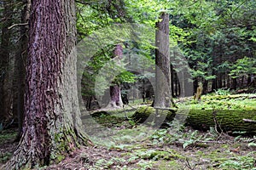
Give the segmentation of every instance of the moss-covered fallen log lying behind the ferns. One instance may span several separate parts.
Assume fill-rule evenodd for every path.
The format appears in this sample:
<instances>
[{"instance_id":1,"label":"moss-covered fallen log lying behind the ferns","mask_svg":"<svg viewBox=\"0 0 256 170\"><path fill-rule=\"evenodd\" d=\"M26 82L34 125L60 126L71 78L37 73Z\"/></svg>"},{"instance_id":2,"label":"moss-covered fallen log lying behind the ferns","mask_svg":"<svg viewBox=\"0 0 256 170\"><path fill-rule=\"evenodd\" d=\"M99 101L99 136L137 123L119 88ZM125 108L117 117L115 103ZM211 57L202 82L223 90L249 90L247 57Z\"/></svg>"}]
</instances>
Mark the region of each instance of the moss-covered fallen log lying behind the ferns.
<instances>
[{"instance_id":1,"label":"moss-covered fallen log lying behind the ferns","mask_svg":"<svg viewBox=\"0 0 256 170\"><path fill-rule=\"evenodd\" d=\"M144 122L148 116L155 114L152 107L139 108L132 118L136 122ZM173 111L165 111L165 122L172 122ZM178 113L176 116L185 116ZM252 120L247 122L244 120ZM208 130L210 127L216 127L219 132L236 134L237 132L246 134L256 134L256 111L232 111L232 110L190 110L185 119L185 125L199 130Z\"/></svg>"}]
</instances>

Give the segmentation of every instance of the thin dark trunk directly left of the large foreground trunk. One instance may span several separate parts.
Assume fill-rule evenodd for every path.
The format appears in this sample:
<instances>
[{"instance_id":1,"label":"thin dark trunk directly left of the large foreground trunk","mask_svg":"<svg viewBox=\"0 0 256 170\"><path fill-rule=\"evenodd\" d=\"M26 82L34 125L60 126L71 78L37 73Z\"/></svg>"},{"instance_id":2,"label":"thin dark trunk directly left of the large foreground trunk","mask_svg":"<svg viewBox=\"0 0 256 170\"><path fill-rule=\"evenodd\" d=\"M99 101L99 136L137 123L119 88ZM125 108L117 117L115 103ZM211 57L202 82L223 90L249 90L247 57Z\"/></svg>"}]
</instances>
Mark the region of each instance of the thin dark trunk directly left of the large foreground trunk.
<instances>
[{"instance_id":1,"label":"thin dark trunk directly left of the large foreground trunk","mask_svg":"<svg viewBox=\"0 0 256 170\"><path fill-rule=\"evenodd\" d=\"M26 5L21 12L21 23L27 23L30 15L31 0L26 0ZM22 132L22 122L24 118L24 92L26 77L26 55L28 43L28 26L20 27L20 51L16 54L15 59L15 82L14 82L14 103L13 112L18 118L19 133L17 139L20 139Z\"/></svg>"}]
</instances>

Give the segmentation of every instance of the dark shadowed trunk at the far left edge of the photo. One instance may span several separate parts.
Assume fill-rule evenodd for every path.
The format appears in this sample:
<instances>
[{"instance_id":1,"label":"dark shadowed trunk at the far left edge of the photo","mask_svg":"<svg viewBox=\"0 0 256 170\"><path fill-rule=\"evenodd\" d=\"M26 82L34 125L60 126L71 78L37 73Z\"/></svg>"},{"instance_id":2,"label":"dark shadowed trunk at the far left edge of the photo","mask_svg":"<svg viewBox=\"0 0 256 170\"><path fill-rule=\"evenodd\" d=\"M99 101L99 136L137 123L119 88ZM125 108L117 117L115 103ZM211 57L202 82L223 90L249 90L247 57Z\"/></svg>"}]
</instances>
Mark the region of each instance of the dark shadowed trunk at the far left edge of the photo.
<instances>
[{"instance_id":1,"label":"dark shadowed trunk at the far left edge of the photo","mask_svg":"<svg viewBox=\"0 0 256 170\"><path fill-rule=\"evenodd\" d=\"M10 52L10 37L11 30L8 29L12 25L13 9L11 8L12 1L3 1L3 20L2 20L2 35L0 48L0 121L9 119L11 109L11 86L9 85L9 52Z\"/></svg>"}]
</instances>

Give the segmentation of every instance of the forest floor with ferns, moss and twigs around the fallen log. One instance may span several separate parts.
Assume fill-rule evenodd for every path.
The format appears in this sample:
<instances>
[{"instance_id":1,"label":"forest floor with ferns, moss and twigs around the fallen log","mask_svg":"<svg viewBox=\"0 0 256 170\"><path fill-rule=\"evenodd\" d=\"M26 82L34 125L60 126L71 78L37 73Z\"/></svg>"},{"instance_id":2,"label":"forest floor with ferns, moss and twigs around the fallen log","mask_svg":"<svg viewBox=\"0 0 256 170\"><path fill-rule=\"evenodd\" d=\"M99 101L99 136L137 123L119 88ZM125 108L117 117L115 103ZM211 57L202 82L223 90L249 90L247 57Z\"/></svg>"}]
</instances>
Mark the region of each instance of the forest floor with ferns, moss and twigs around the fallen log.
<instances>
[{"instance_id":1,"label":"forest floor with ferns, moss and twigs around the fallen log","mask_svg":"<svg viewBox=\"0 0 256 170\"><path fill-rule=\"evenodd\" d=\"M242 108L247 105L250 110L256 107L254 97L232 102ZM255 136L232 137L213 127L205 132L184 126L177 129L174 122L167 128L149 128L125 118L134 111L112 113L94 118L98 125L89 135L95 146L83 146L61 162L42 169L256 170ZM15 129L0 133L0 167L15 150L15 133Z\"/></svg>"}]
</instances>

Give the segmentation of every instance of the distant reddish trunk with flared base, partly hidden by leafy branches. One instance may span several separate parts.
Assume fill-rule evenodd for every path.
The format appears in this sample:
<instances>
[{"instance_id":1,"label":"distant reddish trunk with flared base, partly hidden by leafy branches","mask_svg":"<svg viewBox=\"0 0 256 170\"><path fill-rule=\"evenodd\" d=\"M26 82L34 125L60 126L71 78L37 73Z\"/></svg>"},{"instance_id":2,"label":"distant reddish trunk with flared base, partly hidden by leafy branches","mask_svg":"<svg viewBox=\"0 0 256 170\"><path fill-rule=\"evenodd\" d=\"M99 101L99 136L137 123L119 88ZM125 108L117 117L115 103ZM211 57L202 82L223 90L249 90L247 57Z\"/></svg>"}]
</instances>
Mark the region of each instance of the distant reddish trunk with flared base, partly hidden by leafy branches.
<instances>
[{"instance_id":1,"label":"distant reddish trunk with flared base, partly hidden by leafy branches","mask_svg":"<svg viewBox=\"0 0 256 170\"><path fill-rule=\"evenodd\" d=\"M118 44L113 51L113 57L120 59L123 55L123 48L121 44ZM123 107L121 98L121 88L118 82L113 82L113 85L109 87L110 90L110 102L107 107Z\"/></svg>"}]
</instances>

